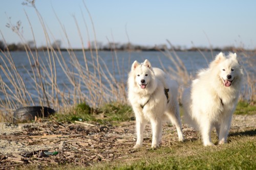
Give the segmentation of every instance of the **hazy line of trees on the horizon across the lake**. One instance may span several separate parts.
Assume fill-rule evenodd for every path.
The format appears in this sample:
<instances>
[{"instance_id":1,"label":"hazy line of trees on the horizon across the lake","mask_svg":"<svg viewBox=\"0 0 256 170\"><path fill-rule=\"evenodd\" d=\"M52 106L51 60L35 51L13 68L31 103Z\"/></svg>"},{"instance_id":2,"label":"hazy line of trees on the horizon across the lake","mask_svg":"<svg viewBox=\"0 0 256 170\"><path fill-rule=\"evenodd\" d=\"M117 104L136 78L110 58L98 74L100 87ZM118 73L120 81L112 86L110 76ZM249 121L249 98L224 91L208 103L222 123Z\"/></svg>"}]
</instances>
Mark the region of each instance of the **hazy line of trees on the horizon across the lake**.
<instances>
[{"instance_id":1,"label":"hazy line of trees on the horizon across the lake","mask_svg":"<svg viewBox=\"0 0 256 170\"><path fill-rule=\"evenodd\" d=\"M91 45L92 44L92 45ZM79 51L82 50L82 48L64 48L61 47L61 41L56 40L50 45L54 50L61 50L61 51L67 51L67 50L74 50ZM24 43L11 43L11 44L5 44L3 41L0 40L0 49L2 51L25 51L25 47L29 47L30 50L34 51L45 51L47 50L47 46L40 46L36 47L34 41L28 41L26 44ZM91 42L88 43L88 48L85 48L84 50L95 50L95 43ZM156 45L156 46L143 46L143 45L134 45L132 43L112 43L110 42L107 45L102 45L102 43L97 42L97 50L99 51L164 51L164 50L175 50L175 51L232 51L232 52L242 52L242 51L256 51L256 48L253 50L248 50L243 47L234 47L234 46L226 46L226 47L181 47L181 46L172 46L170 48L167 48L166 44L163 45Z\"/></svg>"}]
</instances>

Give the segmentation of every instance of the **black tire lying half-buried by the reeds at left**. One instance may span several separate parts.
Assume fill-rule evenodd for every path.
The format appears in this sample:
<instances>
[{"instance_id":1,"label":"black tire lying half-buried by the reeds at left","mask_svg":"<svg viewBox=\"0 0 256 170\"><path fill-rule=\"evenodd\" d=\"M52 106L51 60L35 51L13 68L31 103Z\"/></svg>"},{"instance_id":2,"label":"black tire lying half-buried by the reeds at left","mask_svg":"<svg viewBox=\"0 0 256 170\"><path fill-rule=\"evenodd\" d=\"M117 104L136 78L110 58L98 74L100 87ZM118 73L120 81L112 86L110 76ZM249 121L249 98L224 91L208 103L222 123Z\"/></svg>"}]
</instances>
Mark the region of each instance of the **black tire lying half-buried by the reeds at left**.
<instances>
[{"instance_id":1,"label":"black tire lying half-buried by the reeds at left","mask_svg":"<svg viewBox=\"0 0 256 170\"><path fill-rule=\"evenodd\" d=\"M37 117L48 117L56 111L49 107L42 106L28 106L17 109L13 113L14 122L23 120L33 120Z\"/></svg>"}]
</instances>

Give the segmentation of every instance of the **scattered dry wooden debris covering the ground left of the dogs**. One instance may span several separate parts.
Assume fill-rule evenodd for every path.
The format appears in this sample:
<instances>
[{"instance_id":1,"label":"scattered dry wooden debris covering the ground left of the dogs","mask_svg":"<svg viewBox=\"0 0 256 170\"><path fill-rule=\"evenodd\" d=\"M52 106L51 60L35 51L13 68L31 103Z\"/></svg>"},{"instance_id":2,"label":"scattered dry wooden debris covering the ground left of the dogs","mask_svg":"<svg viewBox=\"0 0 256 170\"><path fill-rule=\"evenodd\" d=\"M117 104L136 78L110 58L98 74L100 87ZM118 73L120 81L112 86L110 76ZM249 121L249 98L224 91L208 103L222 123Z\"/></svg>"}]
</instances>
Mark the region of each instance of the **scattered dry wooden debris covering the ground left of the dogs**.
<instances>
[{"instance_id":1,"label":"scattered dry wooden debris covering the ground left of the dogs","mask_svg":"<svg viewBox=\"0 0 256 170\"><path fill-rule=\"evenodd\" d=\"M174 136L177 136L174 127L164 126L170 131L163 131L163 143L168 145L174 143ZM150 148L151 128L147 125L145 132L144 146ZM40 122L28 125L24 131L9 135L0 135L0 139L12 142L20 142L27 151L4 155L0 157L0 168L15 167L26 164L40 164L56 167L57 164L74 164L90 166L99 161L110 162L123 158L124 154L134 154L137 150L131 150L136 142L135 121L123 122L117 126L110 124L93 125L90 123L78 122L64 124L58 122ZM174 134L173 134L174 133ZM188 131L185 135L191 135L197 139L195 132ZM177 137L176 137L177 138ZM33 147L50 147L51 149L34 149ZM148 147L147 147L148 146ZM58 155L46 155L45 152L57 151ZM8 159L7 159L8 158ZM126 159L124 161L137 160ZM9 164L8 164L9 163ZM10 164L11 163L11 164ZM16 164L15 164L16 163Z\"/></svg>"}]
</instances>

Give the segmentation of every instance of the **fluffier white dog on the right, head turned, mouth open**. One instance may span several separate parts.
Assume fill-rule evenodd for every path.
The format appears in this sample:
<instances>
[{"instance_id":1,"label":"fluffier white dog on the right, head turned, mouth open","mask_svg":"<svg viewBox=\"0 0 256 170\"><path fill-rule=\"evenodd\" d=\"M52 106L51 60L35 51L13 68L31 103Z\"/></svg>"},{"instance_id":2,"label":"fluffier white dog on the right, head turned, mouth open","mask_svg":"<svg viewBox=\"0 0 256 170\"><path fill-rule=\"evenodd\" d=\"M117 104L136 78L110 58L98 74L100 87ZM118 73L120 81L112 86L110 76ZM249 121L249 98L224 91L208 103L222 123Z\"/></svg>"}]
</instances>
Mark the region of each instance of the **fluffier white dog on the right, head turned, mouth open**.
<instances>
[{"instance_id":1,"label":"fluffier white dog on the right, head turned, mouth open","mask_svg":"<svg viewBox=\"0 0 256 170\"><path fill-rule=\"evenodd\" d=\"M209 68L199 72L191 88L183 93L185 122L200 130L203 144L211 142L211 129L216 128L219 144L227 142L231 118L238 103L243 72L236 53L216 56Z\"/></svg>"}]
</instances>

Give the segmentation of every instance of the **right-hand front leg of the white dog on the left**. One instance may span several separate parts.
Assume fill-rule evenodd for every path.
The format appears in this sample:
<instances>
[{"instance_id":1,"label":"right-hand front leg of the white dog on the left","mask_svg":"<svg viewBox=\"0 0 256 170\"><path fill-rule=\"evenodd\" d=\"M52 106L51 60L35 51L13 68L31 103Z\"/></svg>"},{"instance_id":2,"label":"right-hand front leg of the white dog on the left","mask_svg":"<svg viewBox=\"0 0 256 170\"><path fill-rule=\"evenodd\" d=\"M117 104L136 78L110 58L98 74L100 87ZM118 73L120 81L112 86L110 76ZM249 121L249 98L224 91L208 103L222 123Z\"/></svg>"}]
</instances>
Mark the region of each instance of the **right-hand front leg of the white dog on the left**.
<instances>
[{"instance_id":1,"label":"right-hand front leg of the white dog on the left","mask_svg":"<svg viewBox=\"0 0 256 170\"><path fill-rule=\"evenodd\" d=\"M152 148L159 147L159 140L161 137L162 131L162 121L161 119L151 120L152 126Z\"/></svg>"}]
</instances>

